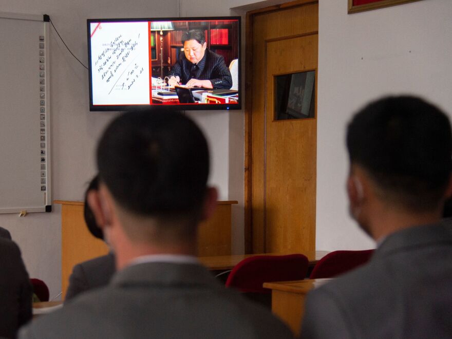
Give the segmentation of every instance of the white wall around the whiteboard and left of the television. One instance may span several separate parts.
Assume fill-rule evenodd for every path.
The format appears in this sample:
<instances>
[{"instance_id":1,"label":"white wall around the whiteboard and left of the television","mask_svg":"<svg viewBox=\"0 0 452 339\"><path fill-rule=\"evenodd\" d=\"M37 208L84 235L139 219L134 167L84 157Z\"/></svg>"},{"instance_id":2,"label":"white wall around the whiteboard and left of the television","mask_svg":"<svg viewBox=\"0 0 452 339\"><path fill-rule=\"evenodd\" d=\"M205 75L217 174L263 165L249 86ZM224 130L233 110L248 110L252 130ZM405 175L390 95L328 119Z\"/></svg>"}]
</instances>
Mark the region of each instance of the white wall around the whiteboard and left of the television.
<instances>
[{"instance_id":1,"label":"white wall around the whiteboard and left of the television","mask_svg":"<svg viewBox=\"0 0 452 339\"><path fill-rule=\"evenodd\" d=\"M166 0L4 0L3 12L49 14L72 52L87 65L86 19L96 17L177 16L179 2ZM89 112L87 70L50 30L52 112L52 196L82 200L96 172L94 150L104 126L116 112ZM51 213L0 215L0 226L19 244L31 277L46 281L50 298L61 291L61 206Z\"/></svg>"}]
</instances>

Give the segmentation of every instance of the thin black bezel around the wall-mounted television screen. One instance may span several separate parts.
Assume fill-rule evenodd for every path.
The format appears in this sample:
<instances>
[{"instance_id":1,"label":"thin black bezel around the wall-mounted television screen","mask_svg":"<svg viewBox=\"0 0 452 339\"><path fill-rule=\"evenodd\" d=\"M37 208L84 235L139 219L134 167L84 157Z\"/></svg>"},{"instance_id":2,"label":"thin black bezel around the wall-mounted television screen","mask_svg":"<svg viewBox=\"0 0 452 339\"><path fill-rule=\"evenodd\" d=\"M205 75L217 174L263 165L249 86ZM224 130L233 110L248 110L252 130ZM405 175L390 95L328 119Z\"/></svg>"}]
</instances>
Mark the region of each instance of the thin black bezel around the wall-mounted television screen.
<instances>
[{"instance_id":1,"label":"thin black bezel around the wall-mounted television screen","mask_svg":"<svg viewBox=\"0 0 452 339\"><path fill-rule=\"evenodd\" d=\"M93 22L148 22L148 21L220 21L237 20L238 41L238 103L237 104L138 104L138 105L93 105L92 104L92 73L91 73L91 34L90 24ZM92 18L86 20L88 43L88 81L89 81L89 111L133 111L141 109L170 109L170 110L237 110L242 107L241 80L241 17L240 16L189 16L189 17L142 17L142 18Z\"/></svg>"}]
</instances>

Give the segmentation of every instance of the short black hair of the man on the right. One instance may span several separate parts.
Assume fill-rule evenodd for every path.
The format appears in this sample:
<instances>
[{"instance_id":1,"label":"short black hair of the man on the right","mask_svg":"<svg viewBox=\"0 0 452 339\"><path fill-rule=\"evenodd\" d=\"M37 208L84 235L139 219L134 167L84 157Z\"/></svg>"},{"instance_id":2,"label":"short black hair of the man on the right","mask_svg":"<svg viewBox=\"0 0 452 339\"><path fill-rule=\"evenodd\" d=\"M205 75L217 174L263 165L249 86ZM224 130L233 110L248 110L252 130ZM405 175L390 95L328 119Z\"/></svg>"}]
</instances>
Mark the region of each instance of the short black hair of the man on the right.
<instances>
[{"instance_id":1,"label":"short black hair of the man on the right","mask_svg":"<svg viewBox=\"0 0 452 339\"><path fill-rule=\"evenodd\" d=\"M438 107L412 96L373 101L349 123L347 148L385 199L408 210L438 207L452 154L449 119Z\"/></svg>"}]
</instances>

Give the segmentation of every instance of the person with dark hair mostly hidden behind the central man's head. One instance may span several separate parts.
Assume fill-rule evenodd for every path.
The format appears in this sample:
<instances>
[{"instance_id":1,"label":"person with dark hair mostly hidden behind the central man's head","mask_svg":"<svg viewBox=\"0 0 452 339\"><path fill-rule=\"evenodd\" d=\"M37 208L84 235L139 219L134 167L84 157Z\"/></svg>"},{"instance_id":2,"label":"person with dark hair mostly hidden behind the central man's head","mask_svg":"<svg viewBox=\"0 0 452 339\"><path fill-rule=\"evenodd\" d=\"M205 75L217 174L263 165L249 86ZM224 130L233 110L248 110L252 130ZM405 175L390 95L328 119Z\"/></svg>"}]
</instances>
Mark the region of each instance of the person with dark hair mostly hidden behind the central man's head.
<instances>
[{"instance_id":1,"label":"person with dark hair mostly hidden behind the central man's head","mask_svg":"<svg viewBox=\"0 0 452 339\"><path fill-rule=\"evenodd\" d=\"M99 228L86 197L89 192L99 189L99 177L96 175L88 185L85 193L84 218L89 232L108 244L108 229ZM79 294L91 289L106 286L115 274L115 255L110 249L107 255L78 263L72 269L69 286L64 302L67 303Z\"/></svg>"}]
</instances>

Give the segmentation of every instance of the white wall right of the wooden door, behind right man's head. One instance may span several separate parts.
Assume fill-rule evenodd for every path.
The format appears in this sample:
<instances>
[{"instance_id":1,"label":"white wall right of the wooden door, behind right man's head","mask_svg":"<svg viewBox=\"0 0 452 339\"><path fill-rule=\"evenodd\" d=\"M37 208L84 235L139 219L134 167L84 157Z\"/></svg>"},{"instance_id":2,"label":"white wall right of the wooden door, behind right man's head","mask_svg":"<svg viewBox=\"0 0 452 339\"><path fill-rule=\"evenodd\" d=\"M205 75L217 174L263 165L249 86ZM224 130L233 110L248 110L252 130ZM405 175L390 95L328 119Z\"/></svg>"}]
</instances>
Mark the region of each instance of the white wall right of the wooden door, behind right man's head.
<instances>
[{"instance_id":1,"label":"white wall right of the wooden door, behind right man's head","mask_svg":"<svg viewBox=\"0 0 452 339\"><path fill-rule=\"evenodd\" d=\"M317 234L319 250L373 246L347 212L345 128L388 93L414 93L452 112L452 2L423 0L347 14L319 2Z\"/></svg>"}]
</instances>

